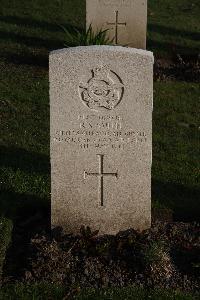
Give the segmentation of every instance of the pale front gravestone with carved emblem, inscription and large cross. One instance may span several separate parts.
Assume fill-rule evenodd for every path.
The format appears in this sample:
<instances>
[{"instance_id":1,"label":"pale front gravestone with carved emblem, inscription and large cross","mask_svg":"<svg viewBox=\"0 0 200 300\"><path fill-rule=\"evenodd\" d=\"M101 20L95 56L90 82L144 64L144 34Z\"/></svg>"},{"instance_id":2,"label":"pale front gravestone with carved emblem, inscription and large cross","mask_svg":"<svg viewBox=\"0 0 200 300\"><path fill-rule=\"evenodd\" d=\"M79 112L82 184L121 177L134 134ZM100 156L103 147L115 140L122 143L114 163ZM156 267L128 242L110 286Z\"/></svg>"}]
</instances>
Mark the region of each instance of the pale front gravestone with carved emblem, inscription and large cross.
<instances>
[{"instance_id":1,"label":"pale front gravestone with carved emblem, inscription and large cross","mask_svg":"<svg viewBox=\"0 0 200 300\"><path fill-rule=\"evenodd\" d=\"M50 54L52 226L115 234L151 223L153 55L120 46Z\"/></svg>"}]
</instances>

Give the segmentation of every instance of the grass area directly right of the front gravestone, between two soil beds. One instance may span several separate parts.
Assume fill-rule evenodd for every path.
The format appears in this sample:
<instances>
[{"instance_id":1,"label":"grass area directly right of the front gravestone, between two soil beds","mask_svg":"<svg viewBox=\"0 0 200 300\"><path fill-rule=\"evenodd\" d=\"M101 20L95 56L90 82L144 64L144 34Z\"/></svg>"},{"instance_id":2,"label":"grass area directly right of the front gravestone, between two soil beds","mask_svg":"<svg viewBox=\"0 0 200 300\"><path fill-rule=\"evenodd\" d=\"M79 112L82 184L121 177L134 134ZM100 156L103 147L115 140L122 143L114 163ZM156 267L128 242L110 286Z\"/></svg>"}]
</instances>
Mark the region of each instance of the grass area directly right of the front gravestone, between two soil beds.
<instances>
[{"instance_id":1,"label":"grass area directly right of the front gravestone, between two soil beds","mask_svg":"<svg viewBox=\"0 0 200 300\"><path fill-rule=\"evenodd\" d=\"M182 221L200 216L199 93L195 83L154 84L152 198Z\"/></svg>"}]
</instances>

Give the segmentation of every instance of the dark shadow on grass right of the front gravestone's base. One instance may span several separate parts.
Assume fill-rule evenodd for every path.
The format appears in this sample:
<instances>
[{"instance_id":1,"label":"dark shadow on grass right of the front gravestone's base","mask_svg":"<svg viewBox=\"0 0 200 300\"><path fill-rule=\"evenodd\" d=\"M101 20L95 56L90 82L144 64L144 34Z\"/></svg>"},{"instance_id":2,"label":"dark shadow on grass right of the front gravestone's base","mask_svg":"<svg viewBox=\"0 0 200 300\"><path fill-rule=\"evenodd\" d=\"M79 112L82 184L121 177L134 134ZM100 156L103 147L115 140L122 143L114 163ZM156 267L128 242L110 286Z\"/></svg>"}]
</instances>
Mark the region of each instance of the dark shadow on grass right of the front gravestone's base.
<instances>
[{"instance_id":1,"label":"dark shadow on grass right of the front gravestone's base","mask_svg":"<svg viewBox=\"0 0 200 300\"><path fill-rule=\"evenodd\" d=\"M200 189L157 180L152 182L152 199L174 212L174 221L192 222L200 219Z\"/></svg>"}]
</instances>

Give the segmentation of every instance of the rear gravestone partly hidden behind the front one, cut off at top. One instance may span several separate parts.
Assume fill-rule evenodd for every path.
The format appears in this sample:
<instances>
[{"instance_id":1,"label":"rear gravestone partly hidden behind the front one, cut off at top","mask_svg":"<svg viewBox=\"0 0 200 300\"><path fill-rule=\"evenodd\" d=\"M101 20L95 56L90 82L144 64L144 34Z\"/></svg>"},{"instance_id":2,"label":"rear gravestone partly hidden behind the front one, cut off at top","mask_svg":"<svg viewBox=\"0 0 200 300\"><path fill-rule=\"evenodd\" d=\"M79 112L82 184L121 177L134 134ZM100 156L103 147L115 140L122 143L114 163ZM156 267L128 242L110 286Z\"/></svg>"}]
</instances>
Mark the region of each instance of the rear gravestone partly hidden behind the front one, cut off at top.
<instances>
[{"instance_id":1,"label":"rear gravestone partly hidden behind the front one, cut off at top","mask_svg":"<svg viewBox=\"0 0 200 300\"><path fill-rule=\"evenodd\" d=\"M147 0L86 0L86 26L108 29L116 45L146 49Z\"/></svg>"}]
</instances>

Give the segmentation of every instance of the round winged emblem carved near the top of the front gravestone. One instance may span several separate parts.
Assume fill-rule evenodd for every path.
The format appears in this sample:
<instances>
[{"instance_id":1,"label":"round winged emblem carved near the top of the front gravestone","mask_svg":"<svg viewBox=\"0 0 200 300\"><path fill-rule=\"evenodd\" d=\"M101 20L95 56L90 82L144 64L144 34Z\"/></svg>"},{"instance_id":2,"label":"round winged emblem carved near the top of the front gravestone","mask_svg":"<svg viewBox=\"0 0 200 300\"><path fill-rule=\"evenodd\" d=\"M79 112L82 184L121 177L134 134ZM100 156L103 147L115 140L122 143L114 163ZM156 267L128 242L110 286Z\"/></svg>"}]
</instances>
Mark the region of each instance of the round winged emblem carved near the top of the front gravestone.
<instances>
[{"instance_id":1,"label":"round winged emblem carved near the top of the front gravestone","mask_svg":"<svg viewBox=\"0 0 200 300\"><path fill-rule=\"evenodd\" d=\"M79 85L81 99L91 109L114 109L122 100L124 85L121 78L105 66L92 70L92 78Z\"/></svg>"}]
</instances>

